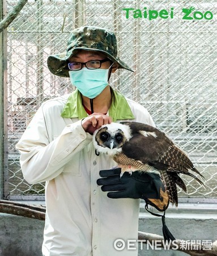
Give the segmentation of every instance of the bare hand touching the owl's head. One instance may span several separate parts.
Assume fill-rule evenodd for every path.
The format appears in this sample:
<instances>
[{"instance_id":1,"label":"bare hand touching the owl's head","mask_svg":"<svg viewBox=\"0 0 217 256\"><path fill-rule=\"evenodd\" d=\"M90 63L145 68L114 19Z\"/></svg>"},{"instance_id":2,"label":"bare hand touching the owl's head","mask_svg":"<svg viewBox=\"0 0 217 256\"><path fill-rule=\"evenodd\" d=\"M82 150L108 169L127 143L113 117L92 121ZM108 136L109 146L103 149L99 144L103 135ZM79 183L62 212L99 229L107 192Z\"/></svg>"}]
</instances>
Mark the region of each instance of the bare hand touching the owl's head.
<instances>
[{"instance_id":1,"label":"bare hand touching the owl's head","mask_svg":"<svg viewBox=\"0 0 217 256\"><path fill-rule=\"evenodd\" d=\"M112 118L101 113L93 113L82 120L82 127L86 133L93 134L95 130L102 125L108 125L112 122Z\"/></svg>"}]
</instances>

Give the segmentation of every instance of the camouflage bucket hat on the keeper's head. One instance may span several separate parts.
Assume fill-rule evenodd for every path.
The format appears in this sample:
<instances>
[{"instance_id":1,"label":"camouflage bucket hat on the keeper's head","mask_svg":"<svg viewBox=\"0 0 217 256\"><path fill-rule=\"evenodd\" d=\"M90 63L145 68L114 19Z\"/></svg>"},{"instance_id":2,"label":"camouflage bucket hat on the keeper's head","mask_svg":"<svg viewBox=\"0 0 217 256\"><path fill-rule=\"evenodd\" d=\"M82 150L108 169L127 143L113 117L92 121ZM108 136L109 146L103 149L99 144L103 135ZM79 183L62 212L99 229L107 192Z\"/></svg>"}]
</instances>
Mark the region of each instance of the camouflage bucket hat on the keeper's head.
<instances>
[{"instance_id":1,"label":"camouflage bucket hat on the keeper's head","mask_svg":"<svg viewBox=\"0 0 217 256\"><path fill-rule=\"evenodd\" d=\"M66 52L48 57L48 68L54 75L69 77L68 60L79 49L88 51L100 51L108 58L119 64L118 68L132 71L117 56L117 40L113 32L104 28L85 26L75 28L70 34Z\"/></svg>"}]
</instances>

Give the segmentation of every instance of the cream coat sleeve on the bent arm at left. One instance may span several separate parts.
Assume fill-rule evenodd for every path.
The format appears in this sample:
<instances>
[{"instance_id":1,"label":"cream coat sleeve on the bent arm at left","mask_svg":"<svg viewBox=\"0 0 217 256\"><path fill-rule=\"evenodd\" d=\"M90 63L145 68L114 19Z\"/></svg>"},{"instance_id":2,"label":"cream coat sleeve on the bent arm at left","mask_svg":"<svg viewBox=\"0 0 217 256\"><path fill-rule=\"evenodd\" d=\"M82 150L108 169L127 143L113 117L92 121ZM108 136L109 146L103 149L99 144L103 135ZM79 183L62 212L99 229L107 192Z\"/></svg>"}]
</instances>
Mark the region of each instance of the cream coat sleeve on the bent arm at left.
<instances>
[{"instance_id":1,"label":"cream coat sleeve on the bent arm at left","mask_svg":"<svg viewBox=\"0 0 217 256\"><path fill-rule=\"evenodd\" d=\"M54 179L61 174L63 166L91 140L92 136L84 131L80 120L67 125L50 142L41 106L16 144L24 179L30 184Z\"/></svg>"}]
</instances>

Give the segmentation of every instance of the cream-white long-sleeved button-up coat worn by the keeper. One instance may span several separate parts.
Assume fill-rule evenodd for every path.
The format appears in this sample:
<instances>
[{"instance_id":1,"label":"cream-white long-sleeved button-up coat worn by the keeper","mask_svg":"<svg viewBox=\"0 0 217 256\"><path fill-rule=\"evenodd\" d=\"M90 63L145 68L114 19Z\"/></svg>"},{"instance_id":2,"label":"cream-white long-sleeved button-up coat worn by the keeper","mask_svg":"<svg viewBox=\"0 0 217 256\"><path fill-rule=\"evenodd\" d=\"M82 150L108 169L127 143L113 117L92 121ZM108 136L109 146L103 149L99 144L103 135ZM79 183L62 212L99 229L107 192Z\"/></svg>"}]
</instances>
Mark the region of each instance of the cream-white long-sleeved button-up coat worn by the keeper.
<instances>
[{"instance_id":1,"label":"cream-white long-sleeved button-up coat worn by the keeper","mask_svg":"<svg viewBox=\"0 0 217 256\"><path fill-rule=\"evenodd\" d=\"M116 163L108 155L95 154L92 135L83 130L79 118L61 116L68 98L62 96L42 104L16 145L25 180L46 181L42 253L135 256L138 251L126 247L127 239L137 240L139 200L109 199L97 186L99 171ZM131 100L127 104L135 118L117 122L154 126L146 109ZM117 113L118 108L122 106L117 106ZM124 250L114 249L117 238L126 242Z\"/></svg>"}]
</instances>

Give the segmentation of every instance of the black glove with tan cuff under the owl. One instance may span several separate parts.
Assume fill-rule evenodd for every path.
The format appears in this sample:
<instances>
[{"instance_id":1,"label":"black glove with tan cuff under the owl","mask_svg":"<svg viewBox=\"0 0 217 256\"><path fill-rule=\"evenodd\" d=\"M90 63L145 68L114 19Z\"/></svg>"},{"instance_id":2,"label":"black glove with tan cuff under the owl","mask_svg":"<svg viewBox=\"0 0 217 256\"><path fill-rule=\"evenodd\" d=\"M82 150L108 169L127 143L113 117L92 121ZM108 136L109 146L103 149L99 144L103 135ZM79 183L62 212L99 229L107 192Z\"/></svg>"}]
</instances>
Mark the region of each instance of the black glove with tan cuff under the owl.
<instances>
[{"instance_id":1,"label":"black glove with tan cuff under the owl","mask_svg":"<svg viewBox=\"0 0 217 256\"><path fill-rule=\"evenodd\" d=\"M122 177L120 174L121 168L100 171L102 179L96 182L102 185L102 191L109 191L109 198L141 198L160 211L168 208L169 197L159 175L139 171L134 171L132 175L124 172Z\"/></svg>"}]
</instances>

